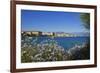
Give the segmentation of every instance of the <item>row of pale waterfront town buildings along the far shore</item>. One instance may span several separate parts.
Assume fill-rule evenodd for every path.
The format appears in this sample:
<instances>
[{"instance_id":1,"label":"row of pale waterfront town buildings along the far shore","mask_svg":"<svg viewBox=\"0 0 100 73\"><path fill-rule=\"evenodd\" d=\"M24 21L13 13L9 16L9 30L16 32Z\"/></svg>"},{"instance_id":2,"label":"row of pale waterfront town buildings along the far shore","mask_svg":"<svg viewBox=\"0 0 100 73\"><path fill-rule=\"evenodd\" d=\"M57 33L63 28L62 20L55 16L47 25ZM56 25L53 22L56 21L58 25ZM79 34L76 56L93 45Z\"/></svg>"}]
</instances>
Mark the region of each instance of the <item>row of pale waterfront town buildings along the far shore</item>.
<instances>
[{"instance_id":1,"label":"row of pale waterfront town buildings along the far shore","mask_svg":"<svg viewBox=\"0 0 100 73\"><path fill-rule=\"evenodd\" d=\"M21 32L22 36L51 36L51 37L78 37L78 34L65 33L65 32L41 32L41 31L24 31Z\"/></svg>"}]
</instances>

